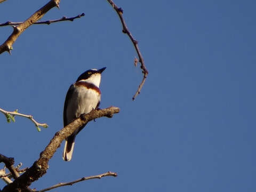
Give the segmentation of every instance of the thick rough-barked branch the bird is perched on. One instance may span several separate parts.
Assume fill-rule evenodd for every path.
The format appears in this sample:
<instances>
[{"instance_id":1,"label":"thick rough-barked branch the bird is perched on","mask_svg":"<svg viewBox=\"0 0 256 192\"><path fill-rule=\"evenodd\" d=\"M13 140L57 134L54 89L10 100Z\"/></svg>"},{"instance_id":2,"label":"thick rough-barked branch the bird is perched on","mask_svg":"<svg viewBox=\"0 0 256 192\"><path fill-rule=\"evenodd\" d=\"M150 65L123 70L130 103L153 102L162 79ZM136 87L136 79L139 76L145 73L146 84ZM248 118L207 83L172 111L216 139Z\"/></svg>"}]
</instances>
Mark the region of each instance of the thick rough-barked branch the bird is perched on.
<instances>
[{"instance_id":1,"label":"thick rough-barked branch the bird is perched on","mask_svg":"<svg viewBox=\"0 0 256 192\"><path fill-rule=\"evenodd\" d=\"M69 137L78 127L85 125L86 123L92 121L95 118L100 118L104 116L112 117L116 113L119 113L119 108L109 107L106 109L92 110L89 114L82 114L81 117L75 119L72 123L68 124L59 132L55 133L50 143L40 153L39 159L34 162L34 164L29 167L29 169L25 173L20 175L19 178L15 179L12 183L5 186L2 192L22 191L29 187L32 182L38 180L46 173L47 169L49 168L48 162L52 158L57 148L60 147L61 142Z\"/></svg>"}]
</instances>

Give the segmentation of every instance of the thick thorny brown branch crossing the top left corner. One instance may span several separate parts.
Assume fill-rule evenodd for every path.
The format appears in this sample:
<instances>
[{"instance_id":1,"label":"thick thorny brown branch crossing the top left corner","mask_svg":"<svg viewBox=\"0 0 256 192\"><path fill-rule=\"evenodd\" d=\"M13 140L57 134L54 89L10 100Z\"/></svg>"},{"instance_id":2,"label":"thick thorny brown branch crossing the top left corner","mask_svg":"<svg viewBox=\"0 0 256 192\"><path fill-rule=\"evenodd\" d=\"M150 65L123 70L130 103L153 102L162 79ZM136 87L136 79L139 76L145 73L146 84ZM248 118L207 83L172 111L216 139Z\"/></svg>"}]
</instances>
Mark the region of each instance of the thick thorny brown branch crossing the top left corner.
<instances>
[{"instance_id":1,"label":"thick thorny brown branch crossing the top left corner","mask_svg":"<svg viewBox=\"0 0 256 192\"><path fill-rule=\"evenodd\" d=\"M59 8L60 0L51 0L46 5L44 5L41 9L36 11L33 15L31 15L26 21L22 22L20 25L13 26L12 34L7 38L7 40L0 45L0 54L7 51L11 53L12 45L30 25L32 25L37 20L41 19L47 11L52 9L53 7Z\"/></svg>"}]
</instances>

